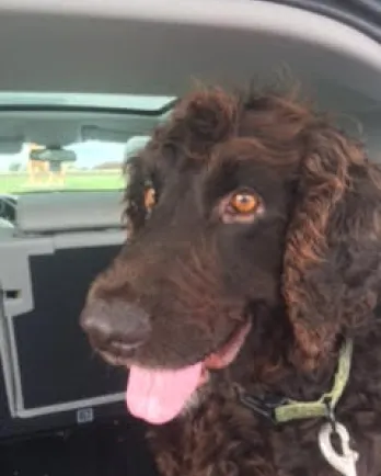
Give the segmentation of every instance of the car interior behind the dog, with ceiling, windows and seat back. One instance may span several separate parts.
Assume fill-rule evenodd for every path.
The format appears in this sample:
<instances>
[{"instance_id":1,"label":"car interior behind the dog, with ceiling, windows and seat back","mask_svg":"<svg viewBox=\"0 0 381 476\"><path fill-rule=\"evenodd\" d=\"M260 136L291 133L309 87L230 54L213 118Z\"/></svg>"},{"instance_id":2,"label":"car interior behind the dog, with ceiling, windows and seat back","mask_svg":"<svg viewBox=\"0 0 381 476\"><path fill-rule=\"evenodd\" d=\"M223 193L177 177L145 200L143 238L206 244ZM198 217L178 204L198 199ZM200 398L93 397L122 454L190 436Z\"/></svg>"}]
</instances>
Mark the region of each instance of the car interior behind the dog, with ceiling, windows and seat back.
<instances>
[{"instance_id":1,"label":"car interior behind the dog, with ceiling, windows and seat back","mask_svg":"<svg viewBox=\"0 0 381 476\"><path fill-rule=\"evenodd\" d=\"M2 476L154 474L124 401L127 372L94 355L79 327L91 281L126 239L123 161L198 82L235 89L279 76L379 160L381 14L368 7L1 2ZM61 182L49 181L54 160L31 175L31 144L74 150Z\"/></svg>"}]
</instances>

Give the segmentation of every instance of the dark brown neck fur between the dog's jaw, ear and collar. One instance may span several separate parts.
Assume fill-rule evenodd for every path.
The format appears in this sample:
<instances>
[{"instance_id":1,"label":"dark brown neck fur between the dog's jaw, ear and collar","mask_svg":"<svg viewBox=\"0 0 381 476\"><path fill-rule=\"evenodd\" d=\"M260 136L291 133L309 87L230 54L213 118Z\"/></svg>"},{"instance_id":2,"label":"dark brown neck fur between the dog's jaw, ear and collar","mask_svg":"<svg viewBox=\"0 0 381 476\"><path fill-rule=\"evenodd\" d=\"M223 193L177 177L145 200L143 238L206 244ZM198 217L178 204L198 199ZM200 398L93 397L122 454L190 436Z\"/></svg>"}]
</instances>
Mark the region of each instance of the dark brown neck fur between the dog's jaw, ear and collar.
<instances>
[{"instance_id":1,"label":"dark brown neck fur between the dog's jaw, ear and collar","mask_svg":"<svg viewBox=\"0 0 381 476\"><path fill-rule=\"evenodd\" d=\"M331 389L340 341L315 369L298 366L293 359L295 345L290 344L293 341L292 329L280 313L282 310L253 317L253 331L229 370L229 379L238 382L252 395L272 394L301 401L316 400Z\"/></svg>"}]
</instances>

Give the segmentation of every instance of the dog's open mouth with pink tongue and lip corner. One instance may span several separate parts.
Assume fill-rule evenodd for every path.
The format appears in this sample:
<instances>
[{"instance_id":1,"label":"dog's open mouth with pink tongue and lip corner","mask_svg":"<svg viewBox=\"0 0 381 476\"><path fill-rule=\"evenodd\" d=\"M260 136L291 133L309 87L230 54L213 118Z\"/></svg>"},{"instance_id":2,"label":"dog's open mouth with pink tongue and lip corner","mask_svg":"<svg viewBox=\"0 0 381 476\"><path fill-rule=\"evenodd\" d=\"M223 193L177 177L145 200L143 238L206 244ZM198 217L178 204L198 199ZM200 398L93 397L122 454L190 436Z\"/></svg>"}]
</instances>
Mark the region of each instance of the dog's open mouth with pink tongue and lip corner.
<instances>
[{"instance_id":1,"label":"dog's open mouth with pink tongue and lip corner","mask_svg":"<svg viewBox=\"0 0 381 476\"><path fill-rule=\"evenodd\" d=\"M126 395L129 411L153 424L163 424L176 418L197 388L208 382L209 371L227 367L233 362L250 328L250 324L241 327L218 351L184 369L131 366Z\"/></svg>"}]
</instances>

